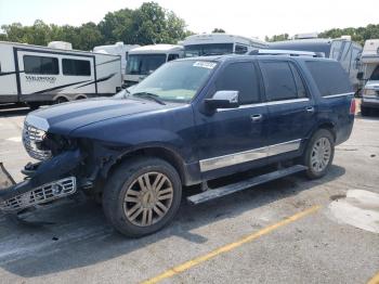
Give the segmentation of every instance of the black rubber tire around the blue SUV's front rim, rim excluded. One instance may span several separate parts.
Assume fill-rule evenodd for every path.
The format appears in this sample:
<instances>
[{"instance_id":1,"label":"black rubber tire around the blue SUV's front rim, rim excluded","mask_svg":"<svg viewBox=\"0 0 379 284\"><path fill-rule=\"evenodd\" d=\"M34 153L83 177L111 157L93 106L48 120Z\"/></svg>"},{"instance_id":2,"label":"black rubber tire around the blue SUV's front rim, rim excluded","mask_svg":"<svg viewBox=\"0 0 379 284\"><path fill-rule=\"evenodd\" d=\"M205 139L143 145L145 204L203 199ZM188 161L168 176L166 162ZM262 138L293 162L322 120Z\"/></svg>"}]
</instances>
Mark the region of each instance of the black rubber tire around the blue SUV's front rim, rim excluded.
<instances>
[{"instance_id":1,"label":"black rubber tire around the blue SUV's front rim, rim excluded","mask_svg":"<svg viewBox=\"0 0 379 284\"><path fill-rule=\"evenodd\" d=\"M134 224L127 217L125 198L127 192L133 184L136 184L136 179L144 173L158 172L168 178L172 185L172 199L168 206L168 210L159 221L146 227ZM142 192L142 191L141 191ZM140 193L141 193L140 192ZM142 195L142 194L141 194ZM103 192L103 210L107 220L121 234L129 237L140 237L152 234L166 224L168 224L175 216L182 197L182 183L178 171L167 162L154 158L135 158L129 159L120 164L107 180ZM153 211L152 207L151 210ZM153 211L153 214L156 214ZM131 214L133 215L133 214ZM130 217L129 217L130 218ZM159 219L160 217L158 217ZM141 218L142 219L142 218Z\"/></svg>"}]
</instances>

